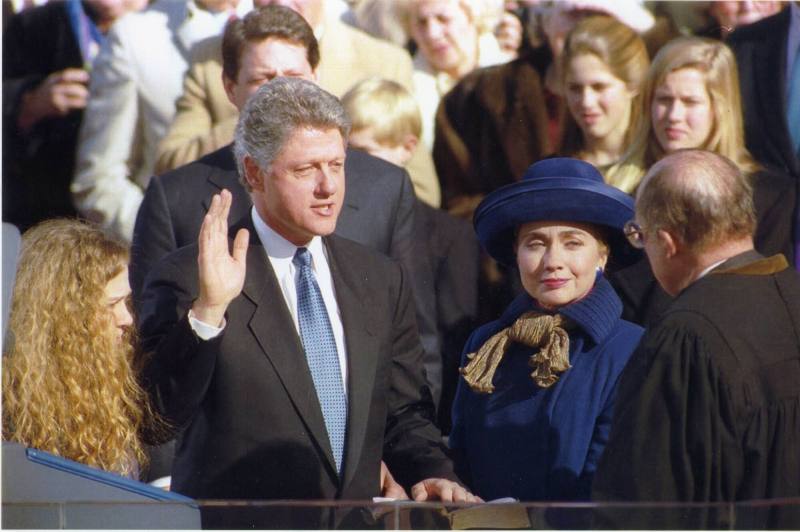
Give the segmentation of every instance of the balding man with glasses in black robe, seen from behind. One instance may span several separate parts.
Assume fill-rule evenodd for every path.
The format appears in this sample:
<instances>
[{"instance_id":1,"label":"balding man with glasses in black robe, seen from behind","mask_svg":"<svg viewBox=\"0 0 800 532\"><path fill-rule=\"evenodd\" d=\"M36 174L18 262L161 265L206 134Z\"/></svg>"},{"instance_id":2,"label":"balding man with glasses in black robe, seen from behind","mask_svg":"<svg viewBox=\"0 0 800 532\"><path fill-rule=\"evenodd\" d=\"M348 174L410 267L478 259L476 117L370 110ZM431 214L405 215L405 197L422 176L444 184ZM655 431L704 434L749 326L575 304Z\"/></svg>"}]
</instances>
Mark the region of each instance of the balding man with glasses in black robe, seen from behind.
<instances>
[{"instance_id":1,"label":"balding man with glasses in black robe, seen from behind","mask_svg":"<svg viewBox=\"0 0 800 532\"><path fill-rule=\"evenodd\" d=\"M597 527L800 524L800 275L753 250L750 195L731 161L701 150L661 159L640 185L650 229L628 234L675 299L620 377L592 487L597 502L644 506L601 507Z\"/></svg>"}]
</instances>

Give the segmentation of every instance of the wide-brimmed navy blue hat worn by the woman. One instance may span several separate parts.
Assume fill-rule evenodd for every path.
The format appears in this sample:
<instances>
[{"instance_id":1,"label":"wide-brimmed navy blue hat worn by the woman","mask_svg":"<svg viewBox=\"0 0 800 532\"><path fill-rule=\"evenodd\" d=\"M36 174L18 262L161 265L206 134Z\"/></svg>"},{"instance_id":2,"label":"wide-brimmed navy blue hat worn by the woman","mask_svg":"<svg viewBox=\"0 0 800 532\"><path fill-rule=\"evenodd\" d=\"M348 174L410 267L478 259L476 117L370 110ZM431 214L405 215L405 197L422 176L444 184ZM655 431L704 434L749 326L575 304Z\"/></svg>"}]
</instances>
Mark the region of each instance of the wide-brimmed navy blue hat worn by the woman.
<instances>
[{"instance_id":1,"label":"wide-brimmed navy blue hat worn by the woman","mask_svg":"<svg viewBox=\"0 0 800 532\"><path fill-rule=\"evenodd\" d=\"M605 184L591 164L557 157L531 165L522 180L488 194L475 210L473 224L481 245L498 262L516 264L516 228L527 222L583 222L605 227L617 264L638 258L623 226L633 218L633 198Z\"/></svg>"}]
</instances>

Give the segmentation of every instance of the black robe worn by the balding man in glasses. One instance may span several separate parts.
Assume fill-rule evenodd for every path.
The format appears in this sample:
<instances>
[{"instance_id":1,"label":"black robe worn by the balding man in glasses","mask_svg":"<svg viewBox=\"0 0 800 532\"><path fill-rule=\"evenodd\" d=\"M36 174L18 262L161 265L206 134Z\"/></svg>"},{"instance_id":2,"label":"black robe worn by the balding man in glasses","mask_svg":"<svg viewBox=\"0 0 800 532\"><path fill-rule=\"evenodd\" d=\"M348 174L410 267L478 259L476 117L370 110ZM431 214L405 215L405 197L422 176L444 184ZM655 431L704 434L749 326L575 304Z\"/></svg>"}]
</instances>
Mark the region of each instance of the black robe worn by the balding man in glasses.
<instances>
[{"instance_id":1,"label":"black robe worn by the balding man in glasses","mask_svg":"<svg viewBox=\"0 0 800 532\"><path fill-rule=\"evenodd\" d=\"M800 276L748 252L685 289L620 379L603 501L800 497ZM735 522L731 522L731 517ZM598 511L597 527L795 528L789 507Z\"/></svg>"}]
</instances>

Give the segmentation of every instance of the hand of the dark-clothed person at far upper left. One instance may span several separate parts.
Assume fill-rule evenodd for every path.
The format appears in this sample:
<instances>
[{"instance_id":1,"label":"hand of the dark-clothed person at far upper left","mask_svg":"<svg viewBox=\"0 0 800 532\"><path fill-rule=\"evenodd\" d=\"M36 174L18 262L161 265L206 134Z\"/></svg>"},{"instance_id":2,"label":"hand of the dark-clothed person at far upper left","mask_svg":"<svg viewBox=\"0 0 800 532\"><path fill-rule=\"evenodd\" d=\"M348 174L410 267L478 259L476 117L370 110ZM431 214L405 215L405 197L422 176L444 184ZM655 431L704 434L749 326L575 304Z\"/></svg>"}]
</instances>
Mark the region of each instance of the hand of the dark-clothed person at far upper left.
<instances>
[{"instance_id":1,"label":"hand of the dark-clothed person at far upper left","mask_svg":"<svg viewBox=\"0 0 800 532\"><path fill-rule=\"evenodd\" d=\"M20 100L17 125L27 131L40 120L66 116L83 109L89 99L89 73L80 68L53 72Z\"/></svg>"}]
</instances>

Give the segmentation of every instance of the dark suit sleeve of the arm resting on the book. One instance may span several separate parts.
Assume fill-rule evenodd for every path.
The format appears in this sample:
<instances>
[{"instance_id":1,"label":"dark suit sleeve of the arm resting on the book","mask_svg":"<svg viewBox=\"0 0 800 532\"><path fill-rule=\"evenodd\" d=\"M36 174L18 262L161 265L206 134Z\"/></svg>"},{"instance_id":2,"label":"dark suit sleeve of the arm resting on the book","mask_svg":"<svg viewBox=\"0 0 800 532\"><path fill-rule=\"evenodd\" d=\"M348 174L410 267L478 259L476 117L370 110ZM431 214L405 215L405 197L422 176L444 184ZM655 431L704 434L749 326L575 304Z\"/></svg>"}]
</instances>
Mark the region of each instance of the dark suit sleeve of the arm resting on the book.
<instances>
[{"instance_id":1,"label":"dark suit sleeve of the arm resting on the book","mask_svg":"<svg viewBox=\"0 0 800 532\"><path fill-rule=\"evenodd\" d=\"M411 290L399 272L394 284L391 376L384 460L398 482L411 486L429 477L458 480L434 425L430 390L422 372L423 351L414 319Z\"/></svg>"}]
</instances>

